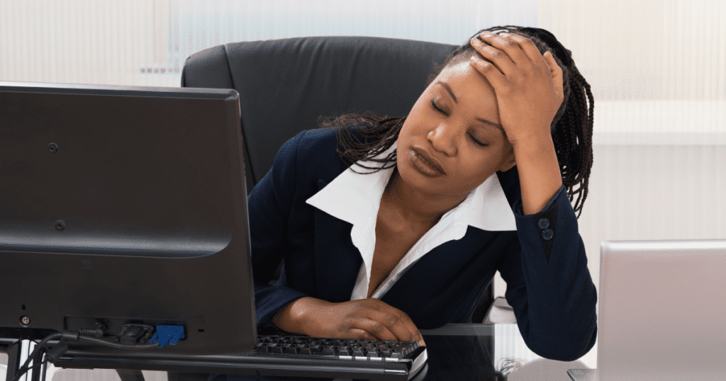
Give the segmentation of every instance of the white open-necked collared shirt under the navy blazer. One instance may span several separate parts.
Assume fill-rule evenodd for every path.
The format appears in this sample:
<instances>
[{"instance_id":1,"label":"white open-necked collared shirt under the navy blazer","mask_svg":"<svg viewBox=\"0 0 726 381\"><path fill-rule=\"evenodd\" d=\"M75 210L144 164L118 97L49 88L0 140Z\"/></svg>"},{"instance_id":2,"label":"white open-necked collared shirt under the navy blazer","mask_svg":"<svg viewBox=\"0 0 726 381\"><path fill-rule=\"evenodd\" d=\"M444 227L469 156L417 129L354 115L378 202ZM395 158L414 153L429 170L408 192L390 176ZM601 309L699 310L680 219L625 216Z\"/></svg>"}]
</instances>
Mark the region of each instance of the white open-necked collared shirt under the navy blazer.
<instances>
[{"instance_id":1,"label":"white open-necked collared shirt under the navy blazer","mask_svg":"<svg viewBox=\"0 0 726 381\"><path fill-rule=\"evenodd\" d=\"M385 157L396 149L396 143L377 157ZM380 163L359 162L368 167L380 168ZM367 172L355 165L356 171ZM306 202L335 218L353 225L351 240L363 257L351 300L365 299L368 296L370 274L375 250L375 224L378 221L378 208L383 190L391 179L393 168L373 173L356 173L351 168L340 173L330 184L310 197ZM391 270L380 283L371 298L380 299L394 283L416 263L425 253L444 242L461 239L468 226L487 231L516 230L514 213L507 197L499 184L497 174L489 176L476 187L466 199L449 210L428 232L423 234L411 250Z\"/></svg>"}]
</instances>

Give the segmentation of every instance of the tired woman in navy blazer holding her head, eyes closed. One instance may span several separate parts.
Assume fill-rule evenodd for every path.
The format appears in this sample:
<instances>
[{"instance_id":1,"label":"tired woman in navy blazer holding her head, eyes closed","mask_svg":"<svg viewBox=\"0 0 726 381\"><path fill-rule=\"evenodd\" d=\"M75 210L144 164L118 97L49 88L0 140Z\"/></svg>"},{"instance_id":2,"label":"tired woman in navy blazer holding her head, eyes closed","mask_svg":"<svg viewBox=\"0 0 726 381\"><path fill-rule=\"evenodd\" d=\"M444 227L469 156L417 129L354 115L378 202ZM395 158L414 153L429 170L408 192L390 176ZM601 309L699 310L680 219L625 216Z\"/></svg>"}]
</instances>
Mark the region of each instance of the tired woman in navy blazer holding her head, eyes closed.
<instances>
[{"instance_id":1,"label":"tired woman in navy blazer holding her head, eyes closed","mask_svg":"<svg viewBox=\"0 0 726 381\"><path fill-rule=\"evenodd\" d=\"M490 28L406 118L290 139L248 199L258 324L423 343L470 320L500 271L532 351L587 353L597 297L568 196L587 197L592 102L551 33Z\"/></svg>"}]
</instances>

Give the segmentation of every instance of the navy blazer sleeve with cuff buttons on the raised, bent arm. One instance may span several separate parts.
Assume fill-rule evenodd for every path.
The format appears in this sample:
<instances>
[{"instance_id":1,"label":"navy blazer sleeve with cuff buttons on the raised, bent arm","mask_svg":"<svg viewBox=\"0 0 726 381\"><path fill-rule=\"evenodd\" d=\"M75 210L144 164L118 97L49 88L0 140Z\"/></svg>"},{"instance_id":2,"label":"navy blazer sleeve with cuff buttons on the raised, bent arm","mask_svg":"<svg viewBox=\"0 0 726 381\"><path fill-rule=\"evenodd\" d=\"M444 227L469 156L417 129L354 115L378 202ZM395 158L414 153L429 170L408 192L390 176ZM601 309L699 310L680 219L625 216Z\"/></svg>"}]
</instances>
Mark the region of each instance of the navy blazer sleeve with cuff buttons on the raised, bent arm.
<instances>
[{"instance_id":1,"label":"navy blazer sleeve with cuff buttons on the raised, bent arm","mask_svg":"<svg viewBox=\"0 0 726 381\"><path fill-rule=\"evenodd\" d=\"M518 241L498 264L507 303L531 351L579 359L595 345L597 292L565 187L539 213L523 215L521 199L513 208Z\"/></svg>"}]
</instances>

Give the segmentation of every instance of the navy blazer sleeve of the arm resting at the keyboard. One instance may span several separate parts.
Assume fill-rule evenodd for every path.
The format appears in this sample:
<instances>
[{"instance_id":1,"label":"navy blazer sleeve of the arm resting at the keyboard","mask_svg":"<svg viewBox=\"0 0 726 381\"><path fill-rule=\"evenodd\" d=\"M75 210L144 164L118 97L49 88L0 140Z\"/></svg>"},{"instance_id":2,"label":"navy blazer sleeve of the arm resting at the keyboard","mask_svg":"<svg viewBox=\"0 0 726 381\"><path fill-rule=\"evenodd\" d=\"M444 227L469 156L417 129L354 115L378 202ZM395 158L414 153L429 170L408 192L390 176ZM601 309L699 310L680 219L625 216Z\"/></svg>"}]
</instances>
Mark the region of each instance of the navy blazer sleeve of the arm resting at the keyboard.
<instances>
[{"instance_id":1,"label":"navy blazer sleeve of the arm resting at the keyboard","mask_svg":"<svg viewBox=\"0 0 726 381\"><path fill-rule=\"evenodd\" d=\"M307 296L282 285L270 284L284 254L289 250L287 221L290 218L296 181L296 156L305 131L287 141L277 152L272 168L248 197L250 245L257 323L269 324L277 311Z\"/></svg>"}]
</instances>

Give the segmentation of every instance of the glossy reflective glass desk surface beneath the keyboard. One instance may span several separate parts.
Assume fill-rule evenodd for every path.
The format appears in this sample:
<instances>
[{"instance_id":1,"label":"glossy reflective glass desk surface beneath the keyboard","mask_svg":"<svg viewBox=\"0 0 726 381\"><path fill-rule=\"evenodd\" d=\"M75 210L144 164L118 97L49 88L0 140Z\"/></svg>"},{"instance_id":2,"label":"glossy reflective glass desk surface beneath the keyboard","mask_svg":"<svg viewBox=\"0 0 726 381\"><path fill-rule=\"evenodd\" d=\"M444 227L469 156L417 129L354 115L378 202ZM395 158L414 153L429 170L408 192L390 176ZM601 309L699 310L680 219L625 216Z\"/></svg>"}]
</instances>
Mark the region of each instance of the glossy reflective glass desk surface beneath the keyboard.
<instances>
[{"instance_id":1,"label":"glossy reflective glass desk surface beneath the keyboard","mask_svg":"<svg viewBox=\"0 0 726 381\"><path fill-rule=\"evenodd\" d=\"M412 380L512 380L570 381L568 369L595 369L597 343L581 359L570 362L542 359L526 347L516 324L449 324L422 330L428 351L424 370ZM4 357L3 357L4 356ZM0 364L7 361L0 354ZM2 373L0 366L0 373ZM120 380L113 369L56 369L49 366L47 380ZM161 371L137 372L135 380L166 381ZM1 377L0 381L4 380ZM134 380L126 374L123 378ZM201 379L203 377L199 377ZM230 377L230 380L235 377ZM195 378L194 380L197 380ZM222 379L224 380L224 379ZM294 377L266 377L250 380L310 380ZM340 380L342 381L342 380Z\"/></svg>"}]
</instances>

